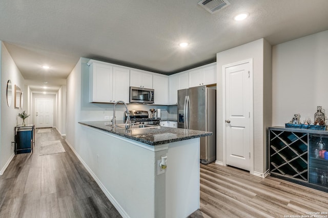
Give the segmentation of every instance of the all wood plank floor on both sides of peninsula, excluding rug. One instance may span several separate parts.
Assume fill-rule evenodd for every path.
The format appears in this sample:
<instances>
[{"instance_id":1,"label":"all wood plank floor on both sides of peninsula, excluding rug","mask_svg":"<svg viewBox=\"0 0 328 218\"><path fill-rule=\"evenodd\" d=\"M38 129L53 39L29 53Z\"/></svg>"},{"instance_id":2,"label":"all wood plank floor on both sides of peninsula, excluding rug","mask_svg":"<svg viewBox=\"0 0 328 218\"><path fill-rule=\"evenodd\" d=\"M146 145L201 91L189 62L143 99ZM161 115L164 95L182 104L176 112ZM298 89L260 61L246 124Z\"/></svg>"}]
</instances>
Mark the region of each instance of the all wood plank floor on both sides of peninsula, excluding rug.
<instances>
[{"instance_id":1,"label":"all wood plank floor on both sides of peninsula, excluding rug","mask_svg":"<svg viewBox=\"0 0 328 218\"><path fill-rule=\"evenodd\" d=\"M40 143L52 140L60 140L66 152L39 156ZM55 129L36 133L33 151L15 155L0 176L0 217L121 217ZM318 211L328 212L326 192L210 163L201 164L200 210L189 217L285 217Z\"/></svg>"}]
</instances>

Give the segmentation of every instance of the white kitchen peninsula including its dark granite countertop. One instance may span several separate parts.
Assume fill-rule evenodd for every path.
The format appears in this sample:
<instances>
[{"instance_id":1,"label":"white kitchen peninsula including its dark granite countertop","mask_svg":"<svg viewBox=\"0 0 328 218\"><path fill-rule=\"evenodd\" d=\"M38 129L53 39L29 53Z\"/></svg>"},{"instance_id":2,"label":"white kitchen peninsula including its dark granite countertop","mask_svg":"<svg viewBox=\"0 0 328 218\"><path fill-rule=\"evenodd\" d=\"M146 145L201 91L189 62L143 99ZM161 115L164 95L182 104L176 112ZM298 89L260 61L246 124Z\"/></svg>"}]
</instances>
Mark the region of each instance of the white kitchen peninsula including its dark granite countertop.
<instances>
[{"instance_id":1,"label":"white kitchen peninsula including its dark granite countertop","mask_svg":"<svg viewBox=\"0 0 328 218\"><path fill-rule=\"evenodd\" d=\"M85 165L123 217L187 217L199 208L199 137L211 132L79 124L80 146L96 157Z\"/></svg>"}]
</instances>

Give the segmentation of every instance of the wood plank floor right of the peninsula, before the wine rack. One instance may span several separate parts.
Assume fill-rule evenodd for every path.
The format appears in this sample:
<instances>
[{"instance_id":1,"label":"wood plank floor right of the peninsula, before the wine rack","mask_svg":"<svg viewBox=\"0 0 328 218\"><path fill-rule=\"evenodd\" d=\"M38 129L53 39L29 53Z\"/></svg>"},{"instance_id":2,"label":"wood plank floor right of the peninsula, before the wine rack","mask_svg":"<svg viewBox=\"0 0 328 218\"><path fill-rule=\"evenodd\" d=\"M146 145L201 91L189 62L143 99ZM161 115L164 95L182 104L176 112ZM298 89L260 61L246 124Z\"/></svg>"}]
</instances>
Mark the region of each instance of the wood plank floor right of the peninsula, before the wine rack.
<instances>
[{"instance_id":1,"label":"wood plank floor right of the peninsula, before the wine rack","mask_svg":"<svg viewBox=\"0 0 328 218\"><path fill-rule=\"evenodd\" d=\"M200 211L203 217L301 217L328 212L328 193L229 166L201 164Z\"/></svg>"}]
</instances>

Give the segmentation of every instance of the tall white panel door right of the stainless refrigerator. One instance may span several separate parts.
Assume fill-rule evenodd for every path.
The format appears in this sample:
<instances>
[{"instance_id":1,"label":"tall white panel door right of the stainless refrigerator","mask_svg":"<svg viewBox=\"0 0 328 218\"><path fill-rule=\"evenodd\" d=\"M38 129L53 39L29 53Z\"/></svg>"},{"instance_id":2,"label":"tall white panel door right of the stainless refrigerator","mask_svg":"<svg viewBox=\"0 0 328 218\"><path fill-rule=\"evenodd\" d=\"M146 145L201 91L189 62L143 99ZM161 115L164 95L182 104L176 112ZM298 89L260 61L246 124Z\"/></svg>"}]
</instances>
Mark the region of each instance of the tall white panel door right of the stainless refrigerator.
<instances>
[{"instance_id":1,"label":"tall white panel door right of the stainless refrigerator","mask_svg":"<svg viewBox=\"0 0 328 218\"><path fill-rule=\"evenodd\" d=\"M252 62L223 66L225 80L226 163L250 170L253 141Z\"/></svg>"}]
</instances>

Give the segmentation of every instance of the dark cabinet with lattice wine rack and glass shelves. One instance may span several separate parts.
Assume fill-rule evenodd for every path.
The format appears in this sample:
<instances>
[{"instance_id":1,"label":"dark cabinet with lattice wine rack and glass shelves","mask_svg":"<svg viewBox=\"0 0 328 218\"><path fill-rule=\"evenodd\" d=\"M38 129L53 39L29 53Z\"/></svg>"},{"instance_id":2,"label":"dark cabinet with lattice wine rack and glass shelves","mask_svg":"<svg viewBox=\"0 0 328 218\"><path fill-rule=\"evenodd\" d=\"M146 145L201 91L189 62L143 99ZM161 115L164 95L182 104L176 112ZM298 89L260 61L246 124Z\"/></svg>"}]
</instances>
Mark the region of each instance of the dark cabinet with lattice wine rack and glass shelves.
<instances>
[{"instance_id":1,"label":"dark cabinet with lattice wine rack and glass shelves","mask_svg":"<svg viewBox=\"0 0 328 218\"><path fill-rule=\"evenodd\" d=\"M272 176L328 192L328 131L269 128Z\"/></svg>"}]
</instances>

